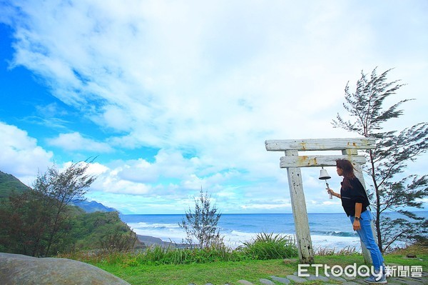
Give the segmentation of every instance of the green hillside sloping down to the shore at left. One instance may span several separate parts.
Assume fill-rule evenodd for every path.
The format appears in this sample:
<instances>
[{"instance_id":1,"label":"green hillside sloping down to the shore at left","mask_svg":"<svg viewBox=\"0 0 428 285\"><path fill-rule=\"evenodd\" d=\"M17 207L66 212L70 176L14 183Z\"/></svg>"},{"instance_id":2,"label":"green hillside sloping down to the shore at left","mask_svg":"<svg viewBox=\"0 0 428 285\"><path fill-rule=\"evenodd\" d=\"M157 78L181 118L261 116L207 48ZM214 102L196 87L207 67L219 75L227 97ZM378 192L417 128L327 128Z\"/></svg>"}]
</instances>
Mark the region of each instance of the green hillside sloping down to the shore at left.
<instances>
[{"instance_id":1,"label":"green hillside sloping down to the shore at left","mask_svg":"<svg viewBox=\"0 0 428 285\"><path fill-rule=\"evenodd\" d=\"M29 190L16 177L0 171L0 252L51 256L75 250L126 251L143 246L117 211L97 211L106 207L93 202L96 210L87 214L85 211L95 207L91 203L85 210L68 205L55 219L54 208L44 208L45 200ZM49 229L56 221L58 231L51 239ZM50 248L46 247L48 241L52 241Z\"/></svg>"}]
</instances>

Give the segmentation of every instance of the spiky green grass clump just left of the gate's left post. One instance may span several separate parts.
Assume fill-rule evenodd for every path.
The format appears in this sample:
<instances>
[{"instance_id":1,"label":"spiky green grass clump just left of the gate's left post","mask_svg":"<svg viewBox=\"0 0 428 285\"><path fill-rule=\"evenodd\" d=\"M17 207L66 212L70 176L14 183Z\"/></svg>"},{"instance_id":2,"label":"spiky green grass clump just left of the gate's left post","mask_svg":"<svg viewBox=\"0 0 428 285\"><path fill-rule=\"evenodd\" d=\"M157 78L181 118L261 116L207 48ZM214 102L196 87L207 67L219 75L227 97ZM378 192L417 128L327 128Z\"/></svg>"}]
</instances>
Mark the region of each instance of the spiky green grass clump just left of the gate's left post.
<instances>
[{"instance_id":1,"label":"spiky green grass clump just left of the gate's left post","mask_svg":"<svg viewBox=\"0 0 428 285\"><path fill-rule=\"evenodd\" d=\"M297 246L292 236L261 233L243 243L238 249L250 259L286 259L297 256Z\"/></svg>"}]
</instances>

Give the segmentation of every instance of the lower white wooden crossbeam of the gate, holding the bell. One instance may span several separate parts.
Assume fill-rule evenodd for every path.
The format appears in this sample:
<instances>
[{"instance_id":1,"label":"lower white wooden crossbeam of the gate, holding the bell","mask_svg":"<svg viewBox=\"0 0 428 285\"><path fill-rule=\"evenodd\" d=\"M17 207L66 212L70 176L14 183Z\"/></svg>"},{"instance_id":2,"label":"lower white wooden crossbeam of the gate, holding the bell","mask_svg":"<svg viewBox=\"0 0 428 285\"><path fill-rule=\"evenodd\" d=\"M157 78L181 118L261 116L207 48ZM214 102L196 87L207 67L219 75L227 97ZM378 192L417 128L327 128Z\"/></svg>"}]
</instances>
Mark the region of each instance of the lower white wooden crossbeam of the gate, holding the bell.
<instances>
[{"instance_id":1,"label":"lower white wooden crossbeam of the gate, holding the bell","mask_svg":"<svg viewBox=\"0 0 428 285\"><path fill-rule=\"evenodd\" d=\"M347 159L354 166L360 166L367 162L365 156L360 155L282 156L280 168L336 166L337 159Z\"/></svg>"}]
</instances>

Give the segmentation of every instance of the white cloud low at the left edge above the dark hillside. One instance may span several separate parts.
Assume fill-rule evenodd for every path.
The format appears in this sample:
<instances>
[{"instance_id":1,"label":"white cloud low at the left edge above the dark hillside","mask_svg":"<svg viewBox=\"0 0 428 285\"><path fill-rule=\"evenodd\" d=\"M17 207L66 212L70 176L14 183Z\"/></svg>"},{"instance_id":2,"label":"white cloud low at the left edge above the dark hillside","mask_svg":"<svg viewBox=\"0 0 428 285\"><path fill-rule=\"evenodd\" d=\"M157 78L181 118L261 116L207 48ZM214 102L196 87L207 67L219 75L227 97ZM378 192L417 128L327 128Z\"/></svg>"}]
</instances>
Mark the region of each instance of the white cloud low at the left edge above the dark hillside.
<instances>
[{"instance_id":1,"label":"white cloud low at the left edge above the dark hillside","mask_svg":"<svg viewBox=\"0 0 428 285\"><path fill-rule=\"evenodd\" d=\"M52 164L54 154L37 144L26 131L0 121L0 170L31 186L38 171Z\"/></svg>"}]
</instances>

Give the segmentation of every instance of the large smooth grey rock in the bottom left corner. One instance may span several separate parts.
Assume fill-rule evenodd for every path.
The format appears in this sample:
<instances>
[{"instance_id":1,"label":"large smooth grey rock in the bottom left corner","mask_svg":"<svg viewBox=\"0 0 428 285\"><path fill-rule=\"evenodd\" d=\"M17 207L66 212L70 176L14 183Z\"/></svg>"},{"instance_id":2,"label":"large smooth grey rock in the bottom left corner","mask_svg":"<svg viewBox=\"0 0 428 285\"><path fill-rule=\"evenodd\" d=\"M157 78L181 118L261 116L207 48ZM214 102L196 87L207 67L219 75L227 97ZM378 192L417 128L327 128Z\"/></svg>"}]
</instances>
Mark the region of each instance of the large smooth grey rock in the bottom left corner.
<instances>
[{"instance_id":1,"label":"large smooth grey rock in the bottom left corner","mask_svg":"<svg viewBox=\"0 0 428 285\"><path fill-rule=\"evenodd\" d=\"M130 285L91 264L71 259L0 253L1 285Z\"/></svg>"}]
</instances>

